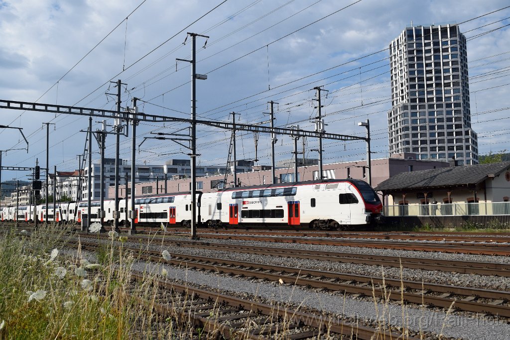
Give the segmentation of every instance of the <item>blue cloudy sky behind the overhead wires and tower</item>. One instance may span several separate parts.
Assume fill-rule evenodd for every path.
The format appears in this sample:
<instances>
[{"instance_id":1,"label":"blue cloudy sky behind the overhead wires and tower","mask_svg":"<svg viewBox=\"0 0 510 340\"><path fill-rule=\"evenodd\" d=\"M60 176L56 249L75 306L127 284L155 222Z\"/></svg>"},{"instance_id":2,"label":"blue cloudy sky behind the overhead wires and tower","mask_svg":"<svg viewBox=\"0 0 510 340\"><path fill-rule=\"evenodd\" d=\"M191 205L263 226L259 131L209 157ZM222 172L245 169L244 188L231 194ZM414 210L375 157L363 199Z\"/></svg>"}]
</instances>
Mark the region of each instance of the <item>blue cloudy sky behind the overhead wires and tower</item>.
<instances>
[{"instance_id":1,"label":"blue cloudy sky behind the overhead wires and tower","mask_svg":"<svg viewBox=\"0 0 510 340\"><path fill-rule=\"evenodd\" d=\"M267 125L268 101L275 126L298 124L313 130L316 91L321 86L326 132L365 136L358 122L370 120L372 159L387 158L391 109L389 43L405 27L460 24L468 39L471 122L479 153L510 150L510 8L504 0L0 0L0 99L115 110L116 82L121 106L139 112L190 118L190 64L187 32L197 37L197 119ZM494 13L491 13L494 12ZM488 14L491 13L491 14ZM487 14L487 15L486 15ZM207 41L207 44L206 44ZM110 94L108 94L110 93ZM327 96L326 96L327 93ZM46 165L79 168L88 117L0 109L3 166ZM53 125L55 124L55 125ZM108 120L107 124L113 124ZM186 133L185 123L146 123L137 127L137 145L150 133ZM93 130L100 129L93 119ZM108 127L111 130L111 127ZM182 130L184 129L184 130ZM291 159L293 141L278 136L276 161ZM230 130L197 127L200 166L224 166ZM270 165L270 136L237 133L237 159ZM108 135L106 157L115 158ZM257 148L256 145L257 144ZM302 141L298 142L298 149ZM317 158L318 140L305 140L305 155ZM14 150L21 149L21 150ZM323 141L324 163L366 157L363 141ZM257 154L256 154L257 150ZM93 140L92 159L99 159ZM137 164L187 159L189 151L169 140L147 139L137 147ZM120 137L120 158L131 158L131 133ZM26 179L27 172L4 171L2 180Z\"/></svg>"}]
</instances>

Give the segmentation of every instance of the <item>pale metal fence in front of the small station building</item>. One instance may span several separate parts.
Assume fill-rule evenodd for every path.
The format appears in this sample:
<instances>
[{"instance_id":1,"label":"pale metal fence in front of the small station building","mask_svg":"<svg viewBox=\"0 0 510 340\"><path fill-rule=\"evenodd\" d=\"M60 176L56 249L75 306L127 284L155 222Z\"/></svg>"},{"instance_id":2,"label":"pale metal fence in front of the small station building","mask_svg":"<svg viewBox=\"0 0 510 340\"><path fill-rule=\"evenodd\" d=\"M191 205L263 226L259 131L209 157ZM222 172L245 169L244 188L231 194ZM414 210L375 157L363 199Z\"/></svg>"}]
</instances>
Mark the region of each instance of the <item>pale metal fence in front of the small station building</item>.
<instances>
[{"instance_id":1,"label":"pale metal fence in front of the small station building","mask_svg":"<svg viewBox=\"0 0 510 340\"><path fill-rule=\"evenodd\" d=\"M384 215L387 224L406 226L509 227L510 202L388 205Z\"/></svg>"}]
</instances>

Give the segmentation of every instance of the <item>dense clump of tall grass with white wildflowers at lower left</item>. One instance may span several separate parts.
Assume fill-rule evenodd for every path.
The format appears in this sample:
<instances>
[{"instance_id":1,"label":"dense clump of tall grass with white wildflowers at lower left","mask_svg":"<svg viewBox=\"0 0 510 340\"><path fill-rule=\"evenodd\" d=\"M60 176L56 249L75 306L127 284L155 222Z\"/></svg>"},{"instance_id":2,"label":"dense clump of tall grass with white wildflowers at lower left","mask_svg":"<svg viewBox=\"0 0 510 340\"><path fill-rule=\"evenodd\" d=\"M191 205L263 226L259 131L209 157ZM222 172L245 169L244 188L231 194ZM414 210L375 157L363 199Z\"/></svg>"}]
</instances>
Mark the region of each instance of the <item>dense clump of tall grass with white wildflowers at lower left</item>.
<instances>
[{"instance_id":1,"label":"dense clump of tall grass with white wildflowers at lower left","mask_svg":"<svg viewBox=\"0 0 510 340\"><path fill-rule=\"evenodd\" d=\"M135 298L154 301L158 274L147 273L133 287L135 259L113 240L101 249L97 264L80 258L80 249L78 257L66 256L67 231L50 225L29 237L11 229L0 238L1 339L154 338L154 332L182 330L168 329L154 304Z\"/></svg>"}]
</instances>

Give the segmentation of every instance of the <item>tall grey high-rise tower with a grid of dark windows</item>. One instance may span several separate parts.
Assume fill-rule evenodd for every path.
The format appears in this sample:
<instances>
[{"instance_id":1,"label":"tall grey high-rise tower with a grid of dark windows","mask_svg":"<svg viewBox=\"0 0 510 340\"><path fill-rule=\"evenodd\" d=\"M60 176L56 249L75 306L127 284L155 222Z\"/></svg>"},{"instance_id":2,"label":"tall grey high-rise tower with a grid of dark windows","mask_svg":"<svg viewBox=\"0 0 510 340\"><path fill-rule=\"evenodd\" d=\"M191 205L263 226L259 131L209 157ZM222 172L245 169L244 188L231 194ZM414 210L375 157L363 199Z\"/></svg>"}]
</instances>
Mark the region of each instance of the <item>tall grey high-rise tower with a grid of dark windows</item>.
<instances>
[{"instance_id":1,"label":"tall grey high-rise tower with a grid of dark windows","mask_svg":"<svg viewBox=\"0 0 510 340\"><path fill-rule=\"evenodd\" d=\"M478 164L466 38L454 24L407 27L390 44L390 154Z\"/></svg>"}]
</instances>

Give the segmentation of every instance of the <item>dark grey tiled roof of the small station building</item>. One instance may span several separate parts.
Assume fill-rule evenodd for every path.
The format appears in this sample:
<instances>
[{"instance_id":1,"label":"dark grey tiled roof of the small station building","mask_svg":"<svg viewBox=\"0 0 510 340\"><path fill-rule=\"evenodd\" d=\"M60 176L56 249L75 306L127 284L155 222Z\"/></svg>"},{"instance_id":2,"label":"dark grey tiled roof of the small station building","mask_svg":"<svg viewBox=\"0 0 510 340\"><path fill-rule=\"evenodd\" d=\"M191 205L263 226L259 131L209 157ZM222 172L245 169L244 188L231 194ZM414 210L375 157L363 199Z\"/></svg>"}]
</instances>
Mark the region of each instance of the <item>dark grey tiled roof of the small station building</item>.
<instances>
[{"instance_id":1,"label":"dark grey tiled roof of the small station building","mask_svg":"<svg viewBox=\"0 0 510 340\"><path fill-rule=\"evenodd\" d=\"M510 162L503 162L402 172L380 182L375 190L398 191L438 187L469 187L484 181L488 175L498 175L509 167Z\"/></svg>"}]
</instances>

